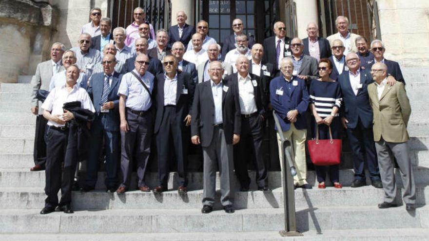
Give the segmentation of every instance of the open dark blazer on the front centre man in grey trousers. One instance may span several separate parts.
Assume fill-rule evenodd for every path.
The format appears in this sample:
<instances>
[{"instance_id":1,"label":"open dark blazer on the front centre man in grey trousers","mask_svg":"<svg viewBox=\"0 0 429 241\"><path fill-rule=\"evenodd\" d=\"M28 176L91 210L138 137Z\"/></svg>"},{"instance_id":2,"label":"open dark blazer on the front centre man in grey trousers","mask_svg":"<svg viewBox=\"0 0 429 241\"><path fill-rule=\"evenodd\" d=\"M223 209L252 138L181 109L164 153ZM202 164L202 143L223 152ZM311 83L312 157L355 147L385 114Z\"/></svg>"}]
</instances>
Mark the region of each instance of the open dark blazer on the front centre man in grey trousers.
<instances>
[{"instance_id":1,"label":"open dark blazer on the front centre man in grey trousers","mask_svg":"<svg viewBox=\"0 0 429 241\"><path fill-rule=\"evenodd\" d=\"M222 91L222 119L226 143L233 144L233 135L241 133L240 104L235 90L238 86L234 82L223 81L228 86ZM200 137L201 146L208 147L213 139L213 119L215 102L212 93L212 81L199 83L195 88L192 104L191 135Z\"/></svg>"}]
</instances>

